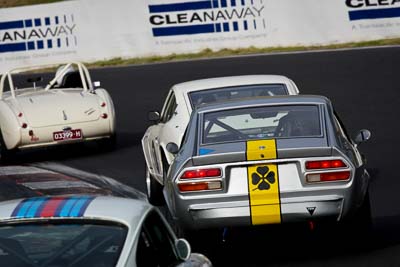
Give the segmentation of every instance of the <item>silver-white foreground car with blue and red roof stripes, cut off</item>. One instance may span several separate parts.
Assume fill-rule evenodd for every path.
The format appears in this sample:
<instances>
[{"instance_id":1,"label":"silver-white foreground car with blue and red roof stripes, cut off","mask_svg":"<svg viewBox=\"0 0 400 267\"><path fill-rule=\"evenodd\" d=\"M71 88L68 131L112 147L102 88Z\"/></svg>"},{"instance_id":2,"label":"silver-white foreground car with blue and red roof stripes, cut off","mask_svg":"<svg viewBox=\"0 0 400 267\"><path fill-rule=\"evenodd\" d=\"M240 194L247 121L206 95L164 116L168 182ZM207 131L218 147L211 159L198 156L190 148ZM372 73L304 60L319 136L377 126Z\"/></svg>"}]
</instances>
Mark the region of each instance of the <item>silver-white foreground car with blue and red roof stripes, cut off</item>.
<instances>
[{"instance_id":1,"label":"silver-white foreground car with blue and red roof stripes, cut off","mask_svg":"<svg viewBox=\"0 0 400 267\"><path fill-rule=\"evenodd\" d=\"M46 167L0 167L1 266L211 266L140 192Z\"/></svg>"}]
</instances>

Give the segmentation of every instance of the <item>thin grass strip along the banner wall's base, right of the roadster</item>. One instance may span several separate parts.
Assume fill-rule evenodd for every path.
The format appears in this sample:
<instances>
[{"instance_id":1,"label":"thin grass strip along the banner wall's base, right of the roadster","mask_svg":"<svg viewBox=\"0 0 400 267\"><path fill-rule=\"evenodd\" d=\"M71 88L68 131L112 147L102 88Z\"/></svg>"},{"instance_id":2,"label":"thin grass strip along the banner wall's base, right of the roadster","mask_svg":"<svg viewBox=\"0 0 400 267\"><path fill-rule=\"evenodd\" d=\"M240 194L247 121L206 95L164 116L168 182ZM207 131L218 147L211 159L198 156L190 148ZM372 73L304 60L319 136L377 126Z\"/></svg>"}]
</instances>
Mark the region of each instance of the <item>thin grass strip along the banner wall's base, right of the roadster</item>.
<instances>
[{"instance_id":1,"label":"thin grass strip along the banner wall's base, right of the roadster","mask_svg":"<svg viewBox=\"0 0 400 267\"><path fill-rule=\"evenodd\" d=\"M400 38L375 40L375 41L359 42L359 43L342 43L342 44L334 44L326 46L307 46L307 47L291 46L291 47L266 47L266 48L249 47L243 49L222 49L218 51L212 51L211 49L204 49L199 53L191 53L191 54L171 54L168 56L152 56L152 57L140 57L140 58L113 58L109 60L86 63L86 65L90 68L95 68L95 67L105 67L105 66L121 66L121 65L131 65L131 64L146 64L155 62L191 60L191 59L201 59L201 58L220 58L220 57L235 56L235 55L313 51L321 49L334 50L340 48L358 48L358 47L387 46L387 45L400 45Z\"/></svg>"}]
</instances>

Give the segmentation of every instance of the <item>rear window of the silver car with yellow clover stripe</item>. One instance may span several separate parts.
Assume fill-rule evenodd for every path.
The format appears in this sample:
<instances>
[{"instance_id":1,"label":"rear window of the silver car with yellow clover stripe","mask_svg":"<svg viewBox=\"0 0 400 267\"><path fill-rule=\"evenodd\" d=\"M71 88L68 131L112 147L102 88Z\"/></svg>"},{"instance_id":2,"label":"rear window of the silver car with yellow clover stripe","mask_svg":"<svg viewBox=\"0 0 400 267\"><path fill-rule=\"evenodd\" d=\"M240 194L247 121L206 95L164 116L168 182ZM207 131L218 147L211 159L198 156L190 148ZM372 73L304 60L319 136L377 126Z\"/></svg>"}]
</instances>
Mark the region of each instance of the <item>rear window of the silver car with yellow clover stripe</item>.
<instances>
[{"instance_id":1,"label":"rear window of the silver car with yellow clover stripe","mask_svg":"<svg viewBox=\"0 0 400 267\"><path fill-rule=\"evenodd\" d=\"M321 137L319 107L286 105L205 113L202 144L268 138Z\"/></svg>"}]
</instances>

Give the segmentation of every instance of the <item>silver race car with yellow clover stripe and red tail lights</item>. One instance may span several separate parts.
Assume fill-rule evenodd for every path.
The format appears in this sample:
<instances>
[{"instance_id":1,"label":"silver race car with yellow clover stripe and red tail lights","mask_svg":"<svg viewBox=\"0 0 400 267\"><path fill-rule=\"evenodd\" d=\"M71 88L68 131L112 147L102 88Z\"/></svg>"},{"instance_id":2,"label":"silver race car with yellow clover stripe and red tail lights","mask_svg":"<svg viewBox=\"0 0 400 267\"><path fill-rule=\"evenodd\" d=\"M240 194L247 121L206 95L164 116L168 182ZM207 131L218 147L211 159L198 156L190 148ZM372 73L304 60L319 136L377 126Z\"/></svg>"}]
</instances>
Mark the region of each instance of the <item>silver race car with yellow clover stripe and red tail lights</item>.
<instances>
[{"instance_id":1,"label":"silver race car with yellow clover stripe and red tail lights","mask_svg":"<svg viewBox=\"0 0 400 267\"><path fill-rule=\"evenodd\" d=\"M342 220L364 204L365 159L322 96L276 96L193 112L164 196L183 229Z\"/></svg>"}]
</instances>

